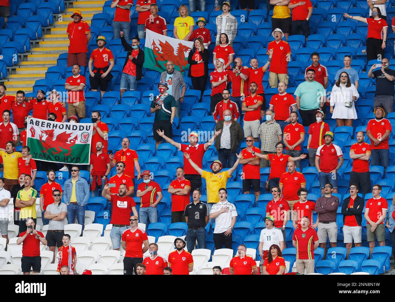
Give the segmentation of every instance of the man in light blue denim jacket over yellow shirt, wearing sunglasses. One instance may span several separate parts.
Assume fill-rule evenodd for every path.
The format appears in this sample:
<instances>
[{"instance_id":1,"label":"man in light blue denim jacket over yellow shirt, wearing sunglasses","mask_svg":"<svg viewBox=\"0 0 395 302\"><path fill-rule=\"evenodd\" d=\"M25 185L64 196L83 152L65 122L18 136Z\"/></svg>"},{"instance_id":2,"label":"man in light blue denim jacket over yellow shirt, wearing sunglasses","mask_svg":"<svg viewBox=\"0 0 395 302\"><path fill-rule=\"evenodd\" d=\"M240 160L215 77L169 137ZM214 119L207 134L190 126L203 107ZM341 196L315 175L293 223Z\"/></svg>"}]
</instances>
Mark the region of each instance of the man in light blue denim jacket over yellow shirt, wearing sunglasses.
<instances>
[{"instance_id":1,"label":"man in light blue denim jacket over yellow shirt, wearing sunglasses","mask_svg":"<svg viewBox=\"0 0 395 302\"><path fill-rule=\"evenodd\" d=\"M85 205L89 199L89 185L85 179L79 176L79 168L71 167L71 178L64 183L64 203L67 205L67 221L74 223L77 216L78 224L82 230L85 227Z\"/></svg>"}]
</instances>

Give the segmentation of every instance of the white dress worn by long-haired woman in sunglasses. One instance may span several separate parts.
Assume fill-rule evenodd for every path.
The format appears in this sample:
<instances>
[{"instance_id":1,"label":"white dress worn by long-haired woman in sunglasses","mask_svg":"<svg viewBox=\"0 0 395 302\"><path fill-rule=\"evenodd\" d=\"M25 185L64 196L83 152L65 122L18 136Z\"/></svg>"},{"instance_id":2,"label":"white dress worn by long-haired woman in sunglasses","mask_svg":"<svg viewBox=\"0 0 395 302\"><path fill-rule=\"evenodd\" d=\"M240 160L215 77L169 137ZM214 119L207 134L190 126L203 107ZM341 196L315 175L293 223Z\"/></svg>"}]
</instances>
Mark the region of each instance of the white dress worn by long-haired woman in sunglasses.
<instances>
[{"instance_id":1,"label":"white dress worn by long-haired woman in sunglasses","mask_svg":"<svg viewBox=\"0 0 395 302\"><path fill-rule=\"evenodd\" d=\"M359 93L355 88L354 84L351 84L350 87L346 87L340 83L339 87L336 85L333 86L331 92L331 106L335 106L333 108L333 119L357 119L357 112L355 111L355 101L352 101L352 97L359 98ZM348 108L344 106L344 101L352 101L352 107Z\"/></svg>"}]
</instances>

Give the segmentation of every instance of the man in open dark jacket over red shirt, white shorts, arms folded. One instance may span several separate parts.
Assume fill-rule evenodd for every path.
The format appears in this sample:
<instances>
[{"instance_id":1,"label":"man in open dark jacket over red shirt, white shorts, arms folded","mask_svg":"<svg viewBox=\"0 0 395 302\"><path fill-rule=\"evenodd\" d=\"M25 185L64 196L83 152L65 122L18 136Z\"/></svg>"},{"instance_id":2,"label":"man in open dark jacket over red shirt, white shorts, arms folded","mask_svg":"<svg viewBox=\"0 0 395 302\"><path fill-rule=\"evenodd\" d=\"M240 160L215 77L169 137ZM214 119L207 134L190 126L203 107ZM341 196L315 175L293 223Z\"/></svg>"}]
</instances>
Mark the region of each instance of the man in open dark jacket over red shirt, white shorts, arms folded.
<instances>
[{"instance_id":1,"label":"man in open dark jacket over red shirt, white shorts, arms folded","mask_svg":"<svg viewBox=\"0 0 395 302\"><path fill-rule=\"evenodd\" d=\"M343 234L347 257L350 254L353 240L355 246L362 246L362 211L364 203L363 198L358 196L357 185L351 183L350 196L345 198L342 204Z\"/></svg>"}]
</instances>

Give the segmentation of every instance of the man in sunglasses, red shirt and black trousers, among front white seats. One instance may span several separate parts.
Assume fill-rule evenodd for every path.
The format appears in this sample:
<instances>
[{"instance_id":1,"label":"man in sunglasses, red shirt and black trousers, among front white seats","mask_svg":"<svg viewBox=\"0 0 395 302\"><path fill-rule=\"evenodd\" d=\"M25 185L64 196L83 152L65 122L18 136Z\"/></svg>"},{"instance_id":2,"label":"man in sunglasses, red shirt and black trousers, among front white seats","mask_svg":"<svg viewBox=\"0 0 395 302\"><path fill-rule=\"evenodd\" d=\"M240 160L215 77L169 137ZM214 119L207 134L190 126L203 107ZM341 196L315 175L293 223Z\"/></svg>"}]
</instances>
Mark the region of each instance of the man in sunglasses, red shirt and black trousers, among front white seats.
<instances>
[{"instance_id":1,"label":"man in sunglasses, red shirt and black trousers, among front white seats","mask_svg":"<svg viewBox=\"0 0 395 302\"><path fill-rule=\"evenodd\" d=\"M121 244L126 251L123 259L124 275L132 275L133 271L137 275L136 266L143 262L143 254L148 250L147 233L138 226L139 218L130 217L130 228L122 233ZM144 246L143 246L144 245Z\"/></svg>"}]
</instances>

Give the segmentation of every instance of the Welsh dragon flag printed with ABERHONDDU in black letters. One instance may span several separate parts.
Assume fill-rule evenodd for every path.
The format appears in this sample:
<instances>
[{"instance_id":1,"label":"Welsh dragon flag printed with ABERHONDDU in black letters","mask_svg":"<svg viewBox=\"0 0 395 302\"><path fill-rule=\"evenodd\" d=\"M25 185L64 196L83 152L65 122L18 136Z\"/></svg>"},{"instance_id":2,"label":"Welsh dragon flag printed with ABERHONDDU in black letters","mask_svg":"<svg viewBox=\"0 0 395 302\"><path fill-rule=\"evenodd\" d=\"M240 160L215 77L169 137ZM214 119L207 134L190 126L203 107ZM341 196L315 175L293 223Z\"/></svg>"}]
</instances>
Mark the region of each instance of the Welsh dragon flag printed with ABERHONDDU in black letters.
<instances>
[{"instance_id":1,"label":"Welsh dragon flag printed with ABERHONDDU in black letters","mask_svg":"<svg viewBox=\"0 0 395 302\"><path fill-rule=\"evenodd\" d=\"M29 118L27 145L36 160L89 164L92 124L58 123Z\"/></svg>"}]
</instances>

